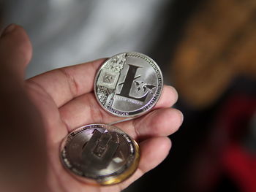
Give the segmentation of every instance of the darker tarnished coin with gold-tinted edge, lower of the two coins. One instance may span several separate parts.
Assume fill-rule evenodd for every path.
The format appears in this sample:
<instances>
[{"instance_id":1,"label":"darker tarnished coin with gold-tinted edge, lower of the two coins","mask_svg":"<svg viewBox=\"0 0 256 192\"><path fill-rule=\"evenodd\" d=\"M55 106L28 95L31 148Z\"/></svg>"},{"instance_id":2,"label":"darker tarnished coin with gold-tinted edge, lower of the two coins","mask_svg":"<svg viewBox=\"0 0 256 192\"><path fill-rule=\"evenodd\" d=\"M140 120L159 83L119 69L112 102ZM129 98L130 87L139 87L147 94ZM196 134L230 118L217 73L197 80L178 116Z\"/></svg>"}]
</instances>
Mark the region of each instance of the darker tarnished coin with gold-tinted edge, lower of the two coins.
<instances>
[{"instance_id":1,"label":"darker tarnished coin with gold-tinted edge, lower of the two coins","mask_svg":"<svg viewBox=\"0 0 256 192\"><path fill-rule=\"evenodd\" d=\"M61 144L61 162L79 180L121 183L138 167L138 144L115 126L91 124L72 131Z\"/></svg>"}]
</instances>

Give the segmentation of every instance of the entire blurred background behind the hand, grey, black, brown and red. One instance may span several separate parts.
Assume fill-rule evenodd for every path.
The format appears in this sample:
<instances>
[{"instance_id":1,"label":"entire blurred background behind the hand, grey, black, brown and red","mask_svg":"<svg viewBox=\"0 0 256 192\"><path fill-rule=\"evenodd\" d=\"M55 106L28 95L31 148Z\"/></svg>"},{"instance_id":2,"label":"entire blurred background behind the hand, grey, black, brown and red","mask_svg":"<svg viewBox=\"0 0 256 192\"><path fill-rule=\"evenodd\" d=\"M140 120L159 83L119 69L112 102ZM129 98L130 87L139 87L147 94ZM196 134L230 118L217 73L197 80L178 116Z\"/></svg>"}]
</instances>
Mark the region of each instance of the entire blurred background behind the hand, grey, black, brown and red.
<instances>
[{"instance_id":1,"label":"entire blurred background behind the hand, grey, black, brown and red","mask_svg":"<svg viewBox=\"0 0 256 192\"><path fill-rule=\"evenodd\" d=\"M125 51L157 61L184 112L170 155L129 191L256 191L255 0L0 0L34 55L26 76ZM86 74L85 74L86 75Z\"/></svg>"}]
</instances>

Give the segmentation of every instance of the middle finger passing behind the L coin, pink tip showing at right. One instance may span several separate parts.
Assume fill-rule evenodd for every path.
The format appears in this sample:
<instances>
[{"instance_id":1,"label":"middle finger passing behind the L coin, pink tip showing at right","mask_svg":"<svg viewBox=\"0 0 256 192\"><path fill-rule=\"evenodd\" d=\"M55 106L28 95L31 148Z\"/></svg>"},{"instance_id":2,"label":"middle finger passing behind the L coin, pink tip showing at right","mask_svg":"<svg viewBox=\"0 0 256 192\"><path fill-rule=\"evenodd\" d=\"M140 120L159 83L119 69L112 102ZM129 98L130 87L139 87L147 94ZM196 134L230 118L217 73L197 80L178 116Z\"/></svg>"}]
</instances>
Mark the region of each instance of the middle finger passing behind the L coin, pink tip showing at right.
<instances>
[{"instance_id":1,"label":"middle finger passing behind the L coin, pink tip showing at right","mask_svg":"<svg viewBox=\"0 0 256 192\"><path fill-rule=\"evenodd\" d=\"M154 109L172 106L177 97L175 89L165 85ZM94 93L86 93L69 101L59 111L69 131L89 123L113 123L124 119L103 110L95 99Z\"/></svg>"}]
</instances>

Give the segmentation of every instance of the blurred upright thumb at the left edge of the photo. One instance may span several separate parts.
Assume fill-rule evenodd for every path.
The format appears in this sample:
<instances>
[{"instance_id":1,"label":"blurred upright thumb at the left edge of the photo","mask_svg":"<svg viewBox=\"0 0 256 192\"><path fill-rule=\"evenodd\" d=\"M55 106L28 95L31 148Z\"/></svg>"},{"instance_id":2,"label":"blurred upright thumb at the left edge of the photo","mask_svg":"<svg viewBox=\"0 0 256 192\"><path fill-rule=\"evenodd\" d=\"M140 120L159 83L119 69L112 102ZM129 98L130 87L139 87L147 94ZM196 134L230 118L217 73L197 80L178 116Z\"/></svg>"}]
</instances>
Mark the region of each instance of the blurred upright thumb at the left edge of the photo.
<instances>
[{"instance_id":1,"label":"blurred upright thumb at the left edge of the photo","mask_svg":"<svg viewBox=\"0 0 256 192\"><path fill-rule=\"evenodd\" d=\"M24 77L24 70L32 56L32 47L26 31L11 24L0 37L0 69L7 74ZM5 75L7 75L5 74Z\"/></svg>"}]
</instances>

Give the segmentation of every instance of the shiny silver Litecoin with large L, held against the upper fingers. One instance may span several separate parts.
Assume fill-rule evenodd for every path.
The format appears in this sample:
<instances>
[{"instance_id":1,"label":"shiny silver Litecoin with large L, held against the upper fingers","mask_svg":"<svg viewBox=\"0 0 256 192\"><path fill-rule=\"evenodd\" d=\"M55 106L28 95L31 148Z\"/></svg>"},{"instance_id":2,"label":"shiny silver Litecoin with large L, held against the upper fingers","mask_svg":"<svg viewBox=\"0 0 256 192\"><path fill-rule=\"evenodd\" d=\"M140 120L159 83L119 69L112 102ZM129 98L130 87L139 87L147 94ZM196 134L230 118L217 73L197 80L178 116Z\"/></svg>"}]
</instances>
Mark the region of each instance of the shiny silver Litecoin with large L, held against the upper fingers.
<instances>
[{"instance_id":1,"label":"shiny silver Litecoin with large L, held against the upper fingers","mask_svg":"<svg viewBox=\"0 0 256 192\"><path fill-rule=\"evenodd\" d=\"M162 93L162 72L142 53L120 53L105 61L94 80L103 109L119 117L143 115Z\"/></svg>"}]
</instances>

